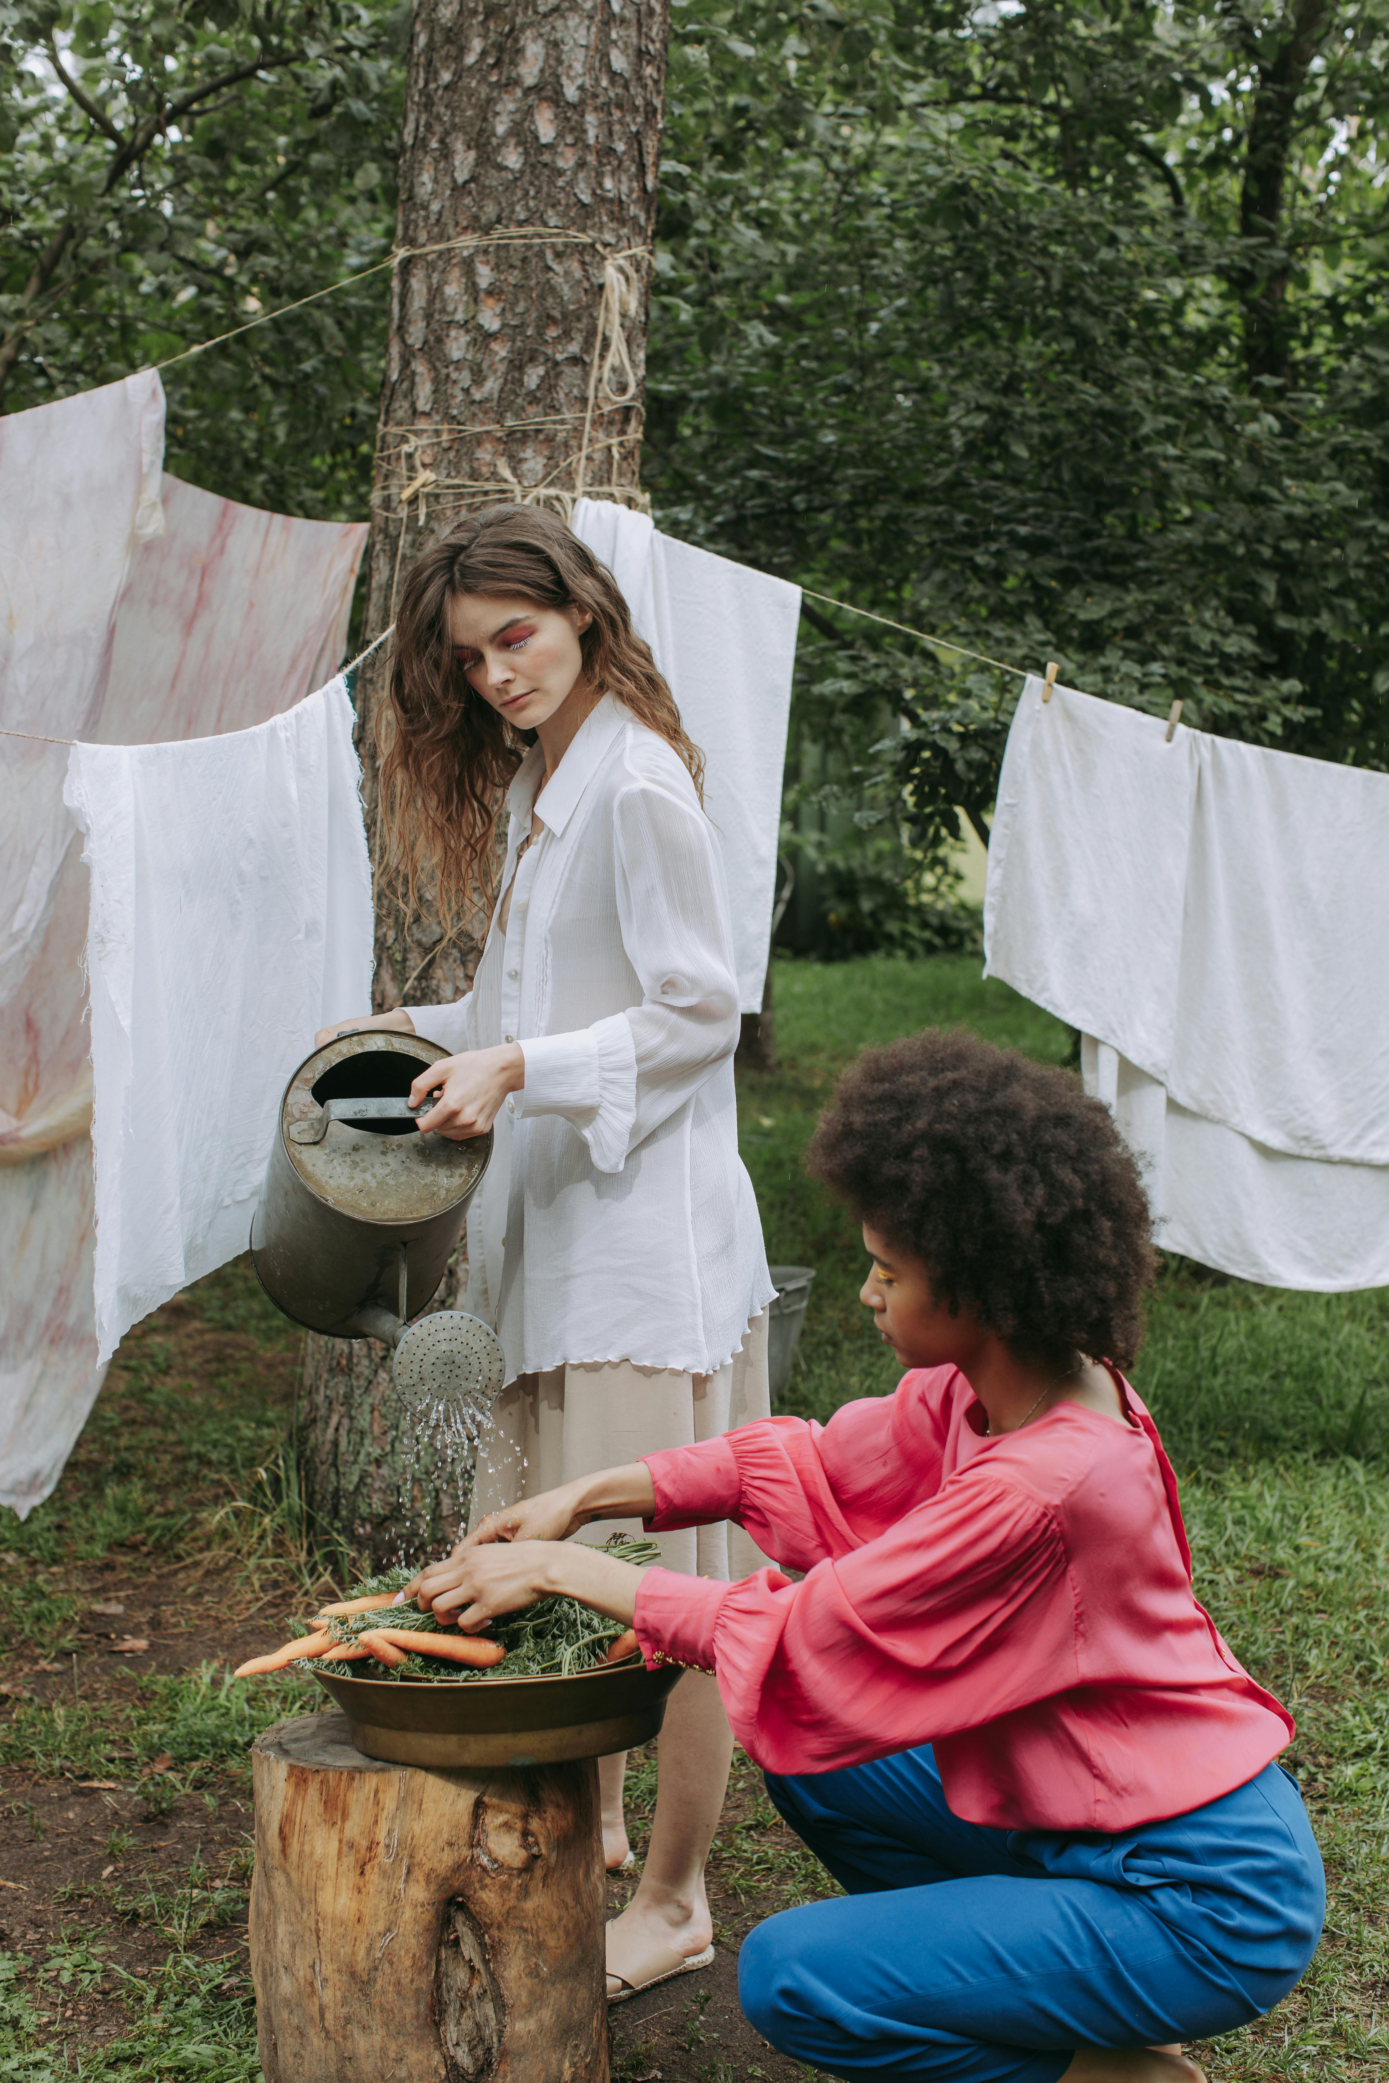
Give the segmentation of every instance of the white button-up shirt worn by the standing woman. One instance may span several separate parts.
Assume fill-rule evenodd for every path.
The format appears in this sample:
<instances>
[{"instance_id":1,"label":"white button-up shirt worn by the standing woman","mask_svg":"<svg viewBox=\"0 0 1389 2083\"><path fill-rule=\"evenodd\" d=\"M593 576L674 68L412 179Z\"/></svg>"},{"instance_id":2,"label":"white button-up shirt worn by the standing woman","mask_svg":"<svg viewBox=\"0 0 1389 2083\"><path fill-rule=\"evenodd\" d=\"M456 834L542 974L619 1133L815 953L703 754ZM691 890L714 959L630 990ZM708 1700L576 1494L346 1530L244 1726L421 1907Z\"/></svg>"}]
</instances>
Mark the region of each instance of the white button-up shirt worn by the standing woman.
<instances>
[{"instance_id":1,"label":"white button-up shirt worn by the standing woman","mask_svg":"<svg viewBox=\"0 0 1389 2083\"><path fill-rule=\"evenodd\" d=\"M462 1306L496 1327L508 1379L602 1360L710 1375L775 1296L737 1154L718 846L675 750L612 696L541 781L533 746L506 798L510 908L473 989L408 1008L450 1054L525 1054L469 1210Z\"/></svg>"}]
</instances>

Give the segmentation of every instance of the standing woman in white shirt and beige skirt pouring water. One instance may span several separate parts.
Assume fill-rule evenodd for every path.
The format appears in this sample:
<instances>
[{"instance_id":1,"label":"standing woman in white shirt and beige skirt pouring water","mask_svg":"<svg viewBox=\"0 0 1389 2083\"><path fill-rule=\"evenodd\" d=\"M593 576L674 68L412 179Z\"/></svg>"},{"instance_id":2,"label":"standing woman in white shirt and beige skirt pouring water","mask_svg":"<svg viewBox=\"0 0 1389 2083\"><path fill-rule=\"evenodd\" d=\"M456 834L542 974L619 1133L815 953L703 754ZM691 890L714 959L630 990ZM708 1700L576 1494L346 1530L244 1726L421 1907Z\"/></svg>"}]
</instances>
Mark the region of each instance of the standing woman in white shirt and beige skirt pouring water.
<instances>
[{"instance_id":1,"label":"standing woman in white shirt and beige skirt pouring water","mask_svg":"<svg viewBox=\"0 0 1389 2083\"><path fill-rule=\"evenodd\" d=\"M462 1302L506 1354L477 1525L766 1416L775 1289L737 1156L737 983L702 758L612 575L562 521L494 506L419 558L385 735L381 804L410 900L429 877L450 925L498 894L466 998L339 1023L448 1048L412 1100L441 1091L435 1133L494 1129ZM660 1548L702 1577L762 1562L727 1525ZM716 1685L687 1673L641 1881L608 1927L614 2000L712 1958L704 1860L729 1758ZM600 1762L610 1866L627 1856L623 1771Z\"/></svg>"}]
</instances>

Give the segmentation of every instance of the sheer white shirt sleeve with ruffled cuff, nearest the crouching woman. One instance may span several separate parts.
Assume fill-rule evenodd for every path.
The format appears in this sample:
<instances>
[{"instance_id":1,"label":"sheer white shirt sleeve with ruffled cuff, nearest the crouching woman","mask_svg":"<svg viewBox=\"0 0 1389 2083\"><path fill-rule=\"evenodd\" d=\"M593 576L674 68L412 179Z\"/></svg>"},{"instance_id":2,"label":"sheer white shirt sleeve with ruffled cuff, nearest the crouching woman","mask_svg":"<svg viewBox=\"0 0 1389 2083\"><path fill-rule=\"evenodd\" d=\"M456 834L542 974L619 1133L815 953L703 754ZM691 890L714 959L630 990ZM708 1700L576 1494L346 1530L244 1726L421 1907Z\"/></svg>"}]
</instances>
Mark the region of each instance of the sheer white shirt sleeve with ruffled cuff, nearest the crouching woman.
<instances>
[{"instance_id":1,"label":"sheer white shirt sleeve with ruffled cuff, nearest the crouching woman","mask_svg":"<svg viewBox=\"0 0 1389 2083\"><path fill-rule=\"evenodd\" d=\"M612 808L616 910L641 1004L521 1044L521 1114L564 1114L598 1171L629 1154L737 1048L737 979L723 862L708 819L658 781Z\"/></svg>"}]
</instances>

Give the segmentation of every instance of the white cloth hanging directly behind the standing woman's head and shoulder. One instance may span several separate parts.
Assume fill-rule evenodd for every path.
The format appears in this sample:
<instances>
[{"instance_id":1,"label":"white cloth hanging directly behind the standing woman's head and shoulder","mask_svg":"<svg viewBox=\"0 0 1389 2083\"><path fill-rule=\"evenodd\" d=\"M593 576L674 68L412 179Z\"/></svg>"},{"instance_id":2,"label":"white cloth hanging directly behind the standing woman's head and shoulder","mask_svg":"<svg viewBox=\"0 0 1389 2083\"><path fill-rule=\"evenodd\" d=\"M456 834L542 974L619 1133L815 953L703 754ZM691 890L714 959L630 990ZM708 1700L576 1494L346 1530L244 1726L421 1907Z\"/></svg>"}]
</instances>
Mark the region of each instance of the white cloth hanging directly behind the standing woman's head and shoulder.
<instances>
[{"instance_id":1,"label":"white cloth hanging directly behind the standing woman's head and shoulder","mask_svg":"<svg viewBox=\"0 0 1389 2083\"><path fill-rule=\"evenodd\" d=\"M610 500L577 500L573 531L608 567L704 754L733 919L737 1002L758 1012L771 952L800 585L658 533Z\"/></svg>"}]
</instances>

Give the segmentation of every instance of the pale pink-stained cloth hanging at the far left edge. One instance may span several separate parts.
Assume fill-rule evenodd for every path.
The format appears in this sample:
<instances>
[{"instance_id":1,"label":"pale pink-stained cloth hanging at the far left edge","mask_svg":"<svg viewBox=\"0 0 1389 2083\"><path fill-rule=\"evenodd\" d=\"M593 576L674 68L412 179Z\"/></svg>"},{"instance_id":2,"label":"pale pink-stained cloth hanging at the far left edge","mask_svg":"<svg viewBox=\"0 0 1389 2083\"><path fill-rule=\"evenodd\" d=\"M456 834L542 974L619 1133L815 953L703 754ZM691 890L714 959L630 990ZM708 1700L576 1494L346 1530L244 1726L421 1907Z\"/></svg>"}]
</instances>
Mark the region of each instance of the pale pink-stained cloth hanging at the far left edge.
<instances>
[{"instance_id":1,"label":"pale pink-stained cloth hanging at the far left edge","mask_svg":"<svg viewBox=\"0 0 1389 2083\"><path fill-rule=\"evenodd\" d=\"M0 419L6 731L75 737L100 714L121 585L162 525L162 452L152 371ZM0 737L0 1504L21 1519L56 1483L102 1385L65 760L60 746Z\"/></svg>"}]
</instances>

